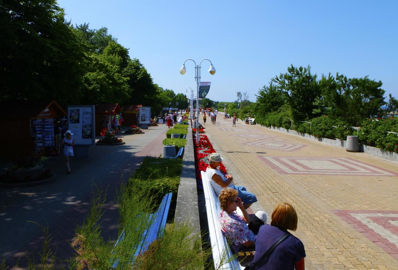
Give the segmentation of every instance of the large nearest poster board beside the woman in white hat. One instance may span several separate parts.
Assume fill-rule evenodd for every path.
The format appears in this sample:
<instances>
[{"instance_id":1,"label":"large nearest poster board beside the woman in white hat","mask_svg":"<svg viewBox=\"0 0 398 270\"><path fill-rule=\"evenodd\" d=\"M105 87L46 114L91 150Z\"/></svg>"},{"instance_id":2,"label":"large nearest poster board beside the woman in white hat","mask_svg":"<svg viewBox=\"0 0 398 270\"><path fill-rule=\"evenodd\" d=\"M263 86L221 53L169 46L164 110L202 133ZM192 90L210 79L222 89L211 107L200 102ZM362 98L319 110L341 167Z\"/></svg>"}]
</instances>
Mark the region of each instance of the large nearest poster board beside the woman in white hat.
<instances>
[{"instance_id":1,"label":"large nearest poster board beside the woman in white hat","mask_svg":"<svg viewBox=\"0 0 398 270\"><path fill-rule=\"evenodd\" d=\"M68 105L68 129L73 133L75 145L95 145L95 106Z\"/></svg>"}]
</instances>

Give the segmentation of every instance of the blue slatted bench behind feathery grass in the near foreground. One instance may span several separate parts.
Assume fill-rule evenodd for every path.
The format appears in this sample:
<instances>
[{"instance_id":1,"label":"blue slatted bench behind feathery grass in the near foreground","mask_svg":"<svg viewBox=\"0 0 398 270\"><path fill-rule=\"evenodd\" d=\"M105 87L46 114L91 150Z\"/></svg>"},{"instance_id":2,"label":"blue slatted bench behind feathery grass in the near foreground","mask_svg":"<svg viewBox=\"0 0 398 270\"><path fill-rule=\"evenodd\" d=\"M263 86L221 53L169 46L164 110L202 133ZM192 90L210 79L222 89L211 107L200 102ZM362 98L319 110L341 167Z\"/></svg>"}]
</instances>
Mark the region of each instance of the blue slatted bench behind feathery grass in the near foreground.
<instances>
[{"instance_id":1,"label":"blue slatted bench behind feathery grass in the near foreground","mask_svg":"<svg viewBox=\"0 0 398 270\"><path fill-rule=\"evenodd\" d=\"M134 255L131 256L131 263L133 264L135 258L145 252L150 243L152 243L156 238L161 237L164 231L164 227L166 226L166 220L170 209L170 202L172 201L173 193L168 193L164 195L162 202L160 203L159 209L153 213L148 215L148 220L152 220L152 224L144 232L142 235L142 240L137 247L137 250ZM125 231L123 230L119 239L117 239L115 243L115 247L124 239ZM112 269L115 269L119 264L119 259L116 259L112 265Z\"/></svg>"}]
</instances>

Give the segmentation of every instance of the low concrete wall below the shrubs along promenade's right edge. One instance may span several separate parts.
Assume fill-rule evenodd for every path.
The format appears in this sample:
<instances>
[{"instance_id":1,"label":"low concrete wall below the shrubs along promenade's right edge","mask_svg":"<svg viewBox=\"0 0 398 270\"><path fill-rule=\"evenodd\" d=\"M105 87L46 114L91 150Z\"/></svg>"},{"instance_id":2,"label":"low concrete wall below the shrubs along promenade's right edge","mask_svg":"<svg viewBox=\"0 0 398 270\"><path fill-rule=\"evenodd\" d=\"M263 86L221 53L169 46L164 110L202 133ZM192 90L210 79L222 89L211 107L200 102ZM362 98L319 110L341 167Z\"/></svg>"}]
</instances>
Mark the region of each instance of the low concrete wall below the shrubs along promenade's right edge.
<instances>
[{"instance_id":1,"label":"low concrete wall below the shrubs along promenade's right edge","mask_svg":"<svg viewBox=\"0 0 398 270\"><path fill-rule=\"evenodd\" d=\"M260 124L257 124L260 125ZM260 125L262 127L265 127L264 125ZM292 135L296 135L296 136L300 136L302 138L305 139L309 139L309 140L313 140L313 141L319 141L321 143L326 143L328 145L332 145L332 146L336 146L336 147L346 147L347 141L342 140L342 139L328 139L328 138L317 138L315 136L312 136L310 134L307 133L299 133L293 129L285 129L283 127L266 127L269 129L275 129L277 131L281 131L281 132L285 132L285 133L289 133ZM355 135L355 134L353 134ZM372 154L375 156L378 156L380 158L384 158L387 160L392 160L392 161L398 161L398 154L394 153L394 152L389 152L389 151L384 151L383 149L377 148L377 147L371 147L369 145L363 145L363 144L359 144L359 152L364 152L367 154Z\"/></svg>"}]
</instances>

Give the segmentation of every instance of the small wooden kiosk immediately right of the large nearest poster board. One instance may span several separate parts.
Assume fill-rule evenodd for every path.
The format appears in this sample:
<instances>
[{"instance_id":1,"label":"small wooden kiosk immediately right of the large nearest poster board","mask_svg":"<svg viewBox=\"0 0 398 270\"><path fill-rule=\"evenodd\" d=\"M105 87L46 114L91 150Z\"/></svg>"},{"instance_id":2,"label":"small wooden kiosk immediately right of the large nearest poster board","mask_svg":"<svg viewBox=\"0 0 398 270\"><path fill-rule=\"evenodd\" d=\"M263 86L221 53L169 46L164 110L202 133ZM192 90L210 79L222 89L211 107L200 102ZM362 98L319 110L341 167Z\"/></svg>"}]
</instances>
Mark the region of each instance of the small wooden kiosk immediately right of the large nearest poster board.
<instances>
[{"instance_id":1,"label":"small wooden kiosk immediately right of the large nearest poster board","mask_svg":"<svg viewBox=\"0 0 398 270\"><path fill-rule=\"evenodd\" d=\"M120 107L115 104L96 105L96 134L100 134L104 128L115 129L120 119Z\"/></svg>"}]
</instances>

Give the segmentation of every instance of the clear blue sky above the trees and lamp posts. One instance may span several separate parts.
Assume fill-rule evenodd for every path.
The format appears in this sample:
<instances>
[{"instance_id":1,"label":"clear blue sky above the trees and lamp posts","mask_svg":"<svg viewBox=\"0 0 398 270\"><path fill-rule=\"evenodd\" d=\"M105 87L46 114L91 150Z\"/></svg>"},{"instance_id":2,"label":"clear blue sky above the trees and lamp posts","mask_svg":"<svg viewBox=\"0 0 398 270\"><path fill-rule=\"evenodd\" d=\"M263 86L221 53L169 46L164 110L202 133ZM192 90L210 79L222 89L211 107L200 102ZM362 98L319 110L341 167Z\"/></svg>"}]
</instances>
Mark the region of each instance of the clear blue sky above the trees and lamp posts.
<instances>
[{"instance_id":1,"label":"clear blue sky above the trees and lamp posts","mask_svg":"<svg viewBox=\"0 0 398 270\"><path fill-rule=\"evenodd\" d=\"M154 83L185 93L196 87L193 62L202 62L208 98L250 100L288 66L310 65L312 73L382 81L398 98L398 1L127 1L59 0L66 19L107 27L129 48Z\"/></svg>"}]
</instances>

